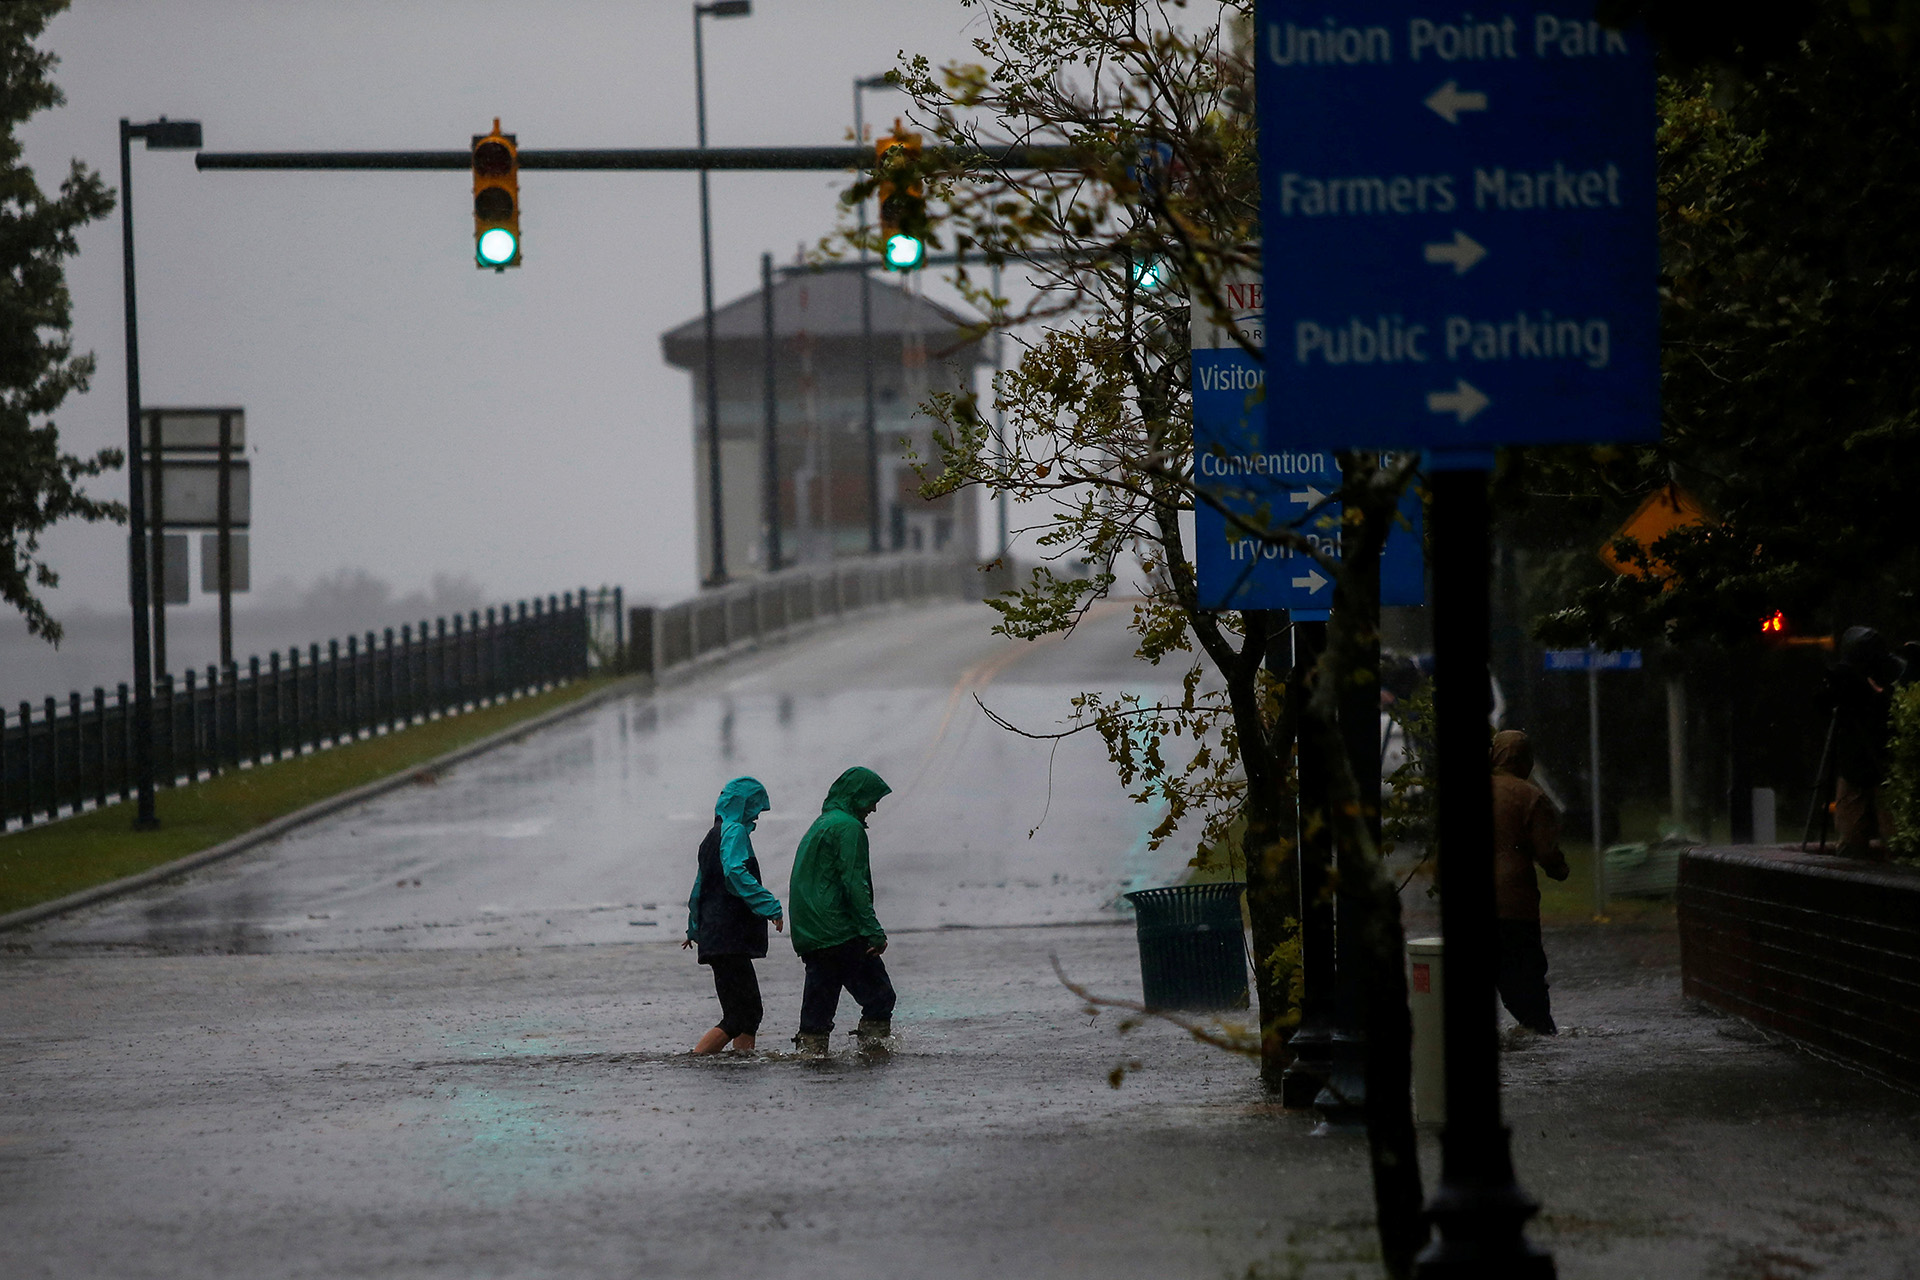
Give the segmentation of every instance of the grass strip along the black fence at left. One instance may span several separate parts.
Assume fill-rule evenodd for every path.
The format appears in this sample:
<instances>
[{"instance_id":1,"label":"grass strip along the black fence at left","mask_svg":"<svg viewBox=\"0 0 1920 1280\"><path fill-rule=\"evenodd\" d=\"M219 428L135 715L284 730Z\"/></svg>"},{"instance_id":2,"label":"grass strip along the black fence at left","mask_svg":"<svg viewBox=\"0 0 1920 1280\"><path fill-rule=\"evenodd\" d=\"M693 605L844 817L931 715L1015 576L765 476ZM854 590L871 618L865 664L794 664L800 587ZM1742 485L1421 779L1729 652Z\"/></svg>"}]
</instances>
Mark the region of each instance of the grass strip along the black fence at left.
<instances>
[{"instance_id":1,"label":"grass strip along the black fence at left","mask_svg":"<svg viewBox=\"0 0 1920 1280\"><path fill-rule=\"evenodd\" d=\"M0 915L136 875L244 835L309 804L417 768L522 720L578 702L609 679L444 716L399 733L344 743L188 787L161 787L159 829L134 831L132 804L108 804L0 837Z\"/></svg>"}]
</instances>

